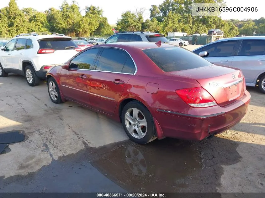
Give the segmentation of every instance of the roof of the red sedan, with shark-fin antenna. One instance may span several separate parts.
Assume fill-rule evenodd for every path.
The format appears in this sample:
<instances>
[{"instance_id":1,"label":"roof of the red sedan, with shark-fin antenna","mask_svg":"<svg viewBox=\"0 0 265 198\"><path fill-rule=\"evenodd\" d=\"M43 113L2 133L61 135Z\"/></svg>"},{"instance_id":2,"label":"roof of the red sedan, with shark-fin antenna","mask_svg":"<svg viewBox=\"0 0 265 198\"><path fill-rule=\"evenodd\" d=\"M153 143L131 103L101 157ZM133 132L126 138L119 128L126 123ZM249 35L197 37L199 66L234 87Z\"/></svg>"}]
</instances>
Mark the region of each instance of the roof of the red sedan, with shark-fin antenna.
<instances>
[{"instance_id":1,"label":"roof of the red sedan, with shark-fin antenna","mask_svg":"<svg viewBox=\"0 0 265 198\"><path fill-rule=\"evenodd\" d=\"M155 42L118 42L118 43L109 43L103 45L97 45L100 47L116 47L116 48L124 48L124 47L133 47L138 49L150 49L150 48L159 48L159 47L178 47L169 43L161 43L161 45L156 44Z\"/></svg>"}]
</instances>

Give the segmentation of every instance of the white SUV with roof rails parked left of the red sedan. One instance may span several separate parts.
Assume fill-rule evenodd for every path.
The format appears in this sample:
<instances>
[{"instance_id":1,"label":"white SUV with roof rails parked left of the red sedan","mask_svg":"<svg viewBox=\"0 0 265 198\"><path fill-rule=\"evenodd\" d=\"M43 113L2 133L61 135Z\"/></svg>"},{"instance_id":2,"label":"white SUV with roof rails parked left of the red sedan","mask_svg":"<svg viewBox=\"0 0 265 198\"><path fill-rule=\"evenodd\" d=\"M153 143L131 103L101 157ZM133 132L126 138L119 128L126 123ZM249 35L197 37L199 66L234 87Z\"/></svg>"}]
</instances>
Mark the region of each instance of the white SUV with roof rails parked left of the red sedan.
<instances>
[{"instance_id":1,"label":"white SUV with roof rails parked left of the red sedan","mask_svg":"<svg viewBox=\"0 0 265 198\"><path fill-rule=\"evenodd\" d=\"M36 86L40 79L45 79L48 69L63 64L80 51L71 37L20 34L0 51L0 76L20 74L30 86Z\"/></svg>"}]
</instances>

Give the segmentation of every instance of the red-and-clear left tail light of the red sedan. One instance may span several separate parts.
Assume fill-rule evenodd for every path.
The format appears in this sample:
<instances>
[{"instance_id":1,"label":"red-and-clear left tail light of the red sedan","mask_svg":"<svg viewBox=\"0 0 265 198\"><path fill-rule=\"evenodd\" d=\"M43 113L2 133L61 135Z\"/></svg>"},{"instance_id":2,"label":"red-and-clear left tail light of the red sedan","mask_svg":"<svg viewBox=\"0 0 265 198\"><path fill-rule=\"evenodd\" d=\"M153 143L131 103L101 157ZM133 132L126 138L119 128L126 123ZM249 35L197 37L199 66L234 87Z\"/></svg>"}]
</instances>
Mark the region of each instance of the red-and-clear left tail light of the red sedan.
<instances>
[{"instance_id":1,"label":"red-and-clear left tail light of the red sedan","mask_svg":"<svg viewBox=\"0 0 265 198\"><path fill-rule=\"evenodd\" d=\"M177 89L175 92L184 102L195 108L217 105L215 99L202 87Z\"/></svg>"}]
</instances>

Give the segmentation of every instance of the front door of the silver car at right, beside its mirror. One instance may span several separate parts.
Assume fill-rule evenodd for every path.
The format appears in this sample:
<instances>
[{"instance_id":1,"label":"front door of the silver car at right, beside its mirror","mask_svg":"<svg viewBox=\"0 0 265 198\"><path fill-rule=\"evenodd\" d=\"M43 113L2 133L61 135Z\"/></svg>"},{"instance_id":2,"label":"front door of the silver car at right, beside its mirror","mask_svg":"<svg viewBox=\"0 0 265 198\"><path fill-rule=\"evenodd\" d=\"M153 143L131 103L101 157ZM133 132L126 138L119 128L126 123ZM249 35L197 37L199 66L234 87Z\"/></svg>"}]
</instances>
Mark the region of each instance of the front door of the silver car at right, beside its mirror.
<instances>
[{"instance_id":1,"label":"front door of the silver car at right, beside its mirror","mask_svg":"<svg viewBox=\"0 0 265 198\"><path fill-rule=\"evenodd\" d=\"M204 47L204 51L209 53L209 55L204 58L216 65L231 66L238 47L239 40L213 43Z\"/></svg>"}]
</instances>

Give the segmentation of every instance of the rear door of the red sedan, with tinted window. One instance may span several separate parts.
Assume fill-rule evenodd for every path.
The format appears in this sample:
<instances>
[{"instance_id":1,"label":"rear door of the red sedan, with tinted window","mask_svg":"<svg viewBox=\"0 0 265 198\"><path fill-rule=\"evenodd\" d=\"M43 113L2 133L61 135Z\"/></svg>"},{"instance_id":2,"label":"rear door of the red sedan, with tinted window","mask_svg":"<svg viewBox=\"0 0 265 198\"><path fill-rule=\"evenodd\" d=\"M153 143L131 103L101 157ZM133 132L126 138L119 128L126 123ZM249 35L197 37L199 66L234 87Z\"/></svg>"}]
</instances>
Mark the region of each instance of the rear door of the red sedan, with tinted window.
<instances>
[{"instance_id":1,"label":"rear door of the red sedan, with tinted window","mask_svg":"<svg viewBox=\"0 0 265 198\"><path fill-rule=\"evenodd\" d=\"M89 100L94 109L113 115L119 97L135 72L129 54L117 48L103 48L89 78Z\"/></svg>"}]
</instances>

